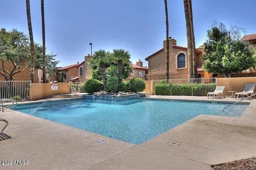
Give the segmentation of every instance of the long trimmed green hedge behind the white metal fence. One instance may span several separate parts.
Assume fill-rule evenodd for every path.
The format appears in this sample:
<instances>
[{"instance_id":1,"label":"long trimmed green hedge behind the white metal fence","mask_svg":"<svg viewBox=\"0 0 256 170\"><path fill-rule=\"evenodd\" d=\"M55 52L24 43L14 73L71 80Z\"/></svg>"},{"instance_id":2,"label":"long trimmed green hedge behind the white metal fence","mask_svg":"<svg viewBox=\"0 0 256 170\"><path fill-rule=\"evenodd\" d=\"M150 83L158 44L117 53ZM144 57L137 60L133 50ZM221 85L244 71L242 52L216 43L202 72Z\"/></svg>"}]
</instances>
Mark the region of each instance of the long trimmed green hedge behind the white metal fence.
<instances>
[{"instance_id":1,"label":"long trimmed green hedge behind the white metal fence","mask_svg":"<svg viewBox=\"0 0 256 170\"><path fill-rule=\"evenodd\" d=\"M156 95L206 96L208 92L214 91L215 88L215 83L156 84L154 91Z\"/></svg>"}]
</instances>

